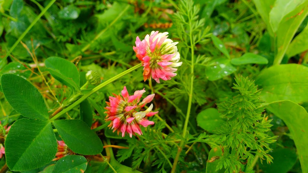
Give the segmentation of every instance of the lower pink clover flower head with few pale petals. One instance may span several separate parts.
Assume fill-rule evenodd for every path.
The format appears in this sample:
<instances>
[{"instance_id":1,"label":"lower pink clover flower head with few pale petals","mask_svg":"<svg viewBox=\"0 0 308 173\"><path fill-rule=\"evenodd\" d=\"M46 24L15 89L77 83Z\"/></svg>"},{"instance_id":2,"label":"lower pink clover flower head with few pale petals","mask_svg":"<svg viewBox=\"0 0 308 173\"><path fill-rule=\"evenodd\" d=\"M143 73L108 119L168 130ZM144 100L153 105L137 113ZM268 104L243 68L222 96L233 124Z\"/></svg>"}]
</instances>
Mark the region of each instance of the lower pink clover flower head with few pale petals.
<instances>
[{"instance_id":1,"label":"lower pink clover flower head with few pale petals","mask_svg":"<svg viewBox=\"0 0 308 173\"><path fill-rule=\"evenodd\" d=\"M115 97L109 97L109 102L106 102L107 107L105 107L107 110L105 111L107 114L105 121L111 121L108 127L113 129L113 132L117 131L118 135L121 132L122 137L128 134L132 138L135 133L142 135L140 125L147 127L154 124L153 121L145 119L146 116L153 116L158 113L158 111L151 112L153 104L145 111L140 111L146 103L150 103L154 98L154 94L148 95L140 102L144 92L143 89L135 91L134 95L129 95L126 86L124 86L121 95L113 94Z\"/></svg>"}]
</instances>

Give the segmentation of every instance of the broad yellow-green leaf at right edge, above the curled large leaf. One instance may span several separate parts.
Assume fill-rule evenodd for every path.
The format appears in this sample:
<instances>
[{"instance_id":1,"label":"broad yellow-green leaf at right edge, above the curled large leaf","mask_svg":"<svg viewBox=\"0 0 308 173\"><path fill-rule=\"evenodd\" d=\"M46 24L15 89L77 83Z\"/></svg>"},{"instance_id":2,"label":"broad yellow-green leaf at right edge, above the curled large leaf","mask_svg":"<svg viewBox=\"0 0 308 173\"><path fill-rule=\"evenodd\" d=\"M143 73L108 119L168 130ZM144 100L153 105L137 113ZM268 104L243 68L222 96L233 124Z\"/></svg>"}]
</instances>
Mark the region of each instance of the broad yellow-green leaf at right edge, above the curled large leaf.
<instances>
[{"instance_id":1,"label":"broad yellow-green leaf at right edge, above the curled large leaf","mask_svg":"<svg viewBox=\"0 0 308 173\"><path fill-rule=\"evenodd\" d=\"M299 64L282 64L264 69L255 79L262 88L261 99L267 103L291 100L308 101L308 67Z\"/></svg>"}]
</instances>

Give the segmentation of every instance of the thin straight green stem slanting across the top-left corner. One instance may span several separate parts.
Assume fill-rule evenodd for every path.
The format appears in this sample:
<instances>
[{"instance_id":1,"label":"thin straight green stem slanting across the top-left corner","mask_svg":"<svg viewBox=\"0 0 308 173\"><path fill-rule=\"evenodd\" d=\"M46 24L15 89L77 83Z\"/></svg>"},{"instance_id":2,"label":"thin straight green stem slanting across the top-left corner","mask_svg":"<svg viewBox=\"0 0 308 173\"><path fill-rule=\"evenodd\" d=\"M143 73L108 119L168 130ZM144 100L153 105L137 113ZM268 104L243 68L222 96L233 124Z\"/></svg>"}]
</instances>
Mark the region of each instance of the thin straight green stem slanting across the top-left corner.
<instances>
[{"instance_id":1,"label":"thin straight green stem slanting across the top-left corner","mask_svg":"<svg viewBox=\"0 0 308 173\"><path fill-rule=\"evenodd\" d=\"M17 41L14 43L14 45L10 48L10 50L6 53L5 57L2 59L2 62L0 63L0 66L3 65L4 62L6 62L6 58L9 57L9 55L12 53L12 51L15 49L15 47L18 45L18 43L26 36L26 34L29 32L29 30L34 26L34 24L39 21L39 19L43 16L43 14L51 7L51 5L55 2L56 0L51 0L47 6L41 11L41 13L36 16L36 18L33 20L33 22L28 26L28 28L23 32L20 37L17 39Z\"/></svg>"}]
</instances>

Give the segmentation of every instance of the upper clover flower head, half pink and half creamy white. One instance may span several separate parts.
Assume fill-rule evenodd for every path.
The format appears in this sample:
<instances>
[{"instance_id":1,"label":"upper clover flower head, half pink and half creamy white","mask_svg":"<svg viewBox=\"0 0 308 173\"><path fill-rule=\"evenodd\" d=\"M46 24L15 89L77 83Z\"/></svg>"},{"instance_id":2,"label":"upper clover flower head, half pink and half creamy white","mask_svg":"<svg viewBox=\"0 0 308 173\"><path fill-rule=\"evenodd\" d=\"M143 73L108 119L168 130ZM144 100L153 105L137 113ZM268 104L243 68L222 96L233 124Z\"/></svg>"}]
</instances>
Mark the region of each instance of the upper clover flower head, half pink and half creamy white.
<instances>
[{"instance_id":1,"label":"upper clover flower head, half pink and half creamy white","mask_svg":"<svg viewBox=\"0 0 308 173\"><path fill-rule=\"evenodd\" d=\"M146 35L144 40L136 38L136 57L142 62L144 81L151 77L160 83L159 79L170 80L176 76L176 68L182 65L180 61L180 53L177 51L176 45L179 42L173 42L167 38L168 32L159 33L152 31L150 35Z\"/></svg>"}]
</instances>

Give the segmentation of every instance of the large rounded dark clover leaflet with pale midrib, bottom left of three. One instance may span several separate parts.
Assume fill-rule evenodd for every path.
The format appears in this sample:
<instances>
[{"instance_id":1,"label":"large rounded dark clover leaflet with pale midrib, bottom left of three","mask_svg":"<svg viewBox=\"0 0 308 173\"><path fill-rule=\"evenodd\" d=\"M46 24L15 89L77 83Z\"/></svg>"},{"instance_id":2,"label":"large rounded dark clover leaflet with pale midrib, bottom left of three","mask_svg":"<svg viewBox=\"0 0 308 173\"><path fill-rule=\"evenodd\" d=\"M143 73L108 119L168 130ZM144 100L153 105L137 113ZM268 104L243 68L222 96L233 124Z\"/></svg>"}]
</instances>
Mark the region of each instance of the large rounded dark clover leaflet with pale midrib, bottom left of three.
<instances>
[{"instance_id":1,"label":"large rounded dark clover leaflet with pale midrib, bottom left of three","mask_svg":"<svg viewBox=\"0 0 308 173\"><path fill-rule=\"evenodd\" d=\"M56 152L57 140L49 121L19 119L6 137L6 163L12 171L42 167Z\"/></svg>"}]
</instances>

